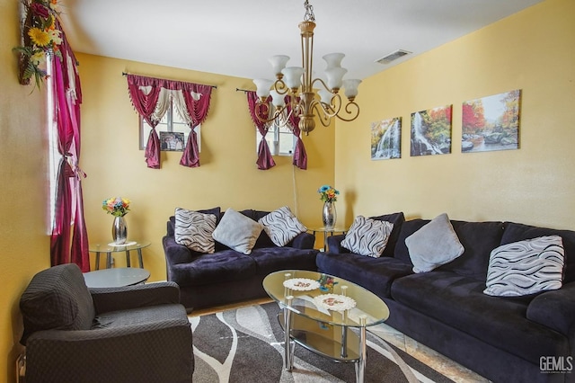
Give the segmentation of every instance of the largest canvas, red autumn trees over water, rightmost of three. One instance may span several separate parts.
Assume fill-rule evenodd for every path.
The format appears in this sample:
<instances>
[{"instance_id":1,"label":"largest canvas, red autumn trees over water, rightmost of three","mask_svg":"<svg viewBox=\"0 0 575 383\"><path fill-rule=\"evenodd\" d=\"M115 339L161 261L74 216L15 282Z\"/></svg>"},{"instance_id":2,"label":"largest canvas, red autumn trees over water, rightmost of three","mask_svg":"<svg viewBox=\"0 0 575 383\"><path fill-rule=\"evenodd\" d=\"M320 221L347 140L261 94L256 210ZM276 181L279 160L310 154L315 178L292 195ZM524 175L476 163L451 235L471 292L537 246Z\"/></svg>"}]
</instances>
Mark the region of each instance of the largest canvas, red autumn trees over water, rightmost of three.
<instances>
[{"instance_id":1,"label":"largest canvas, red autumn trees over water, rightmost of three","mask_svg":"<svg viewBox=\"0 0 575 383\"><path fill-rule=\"evenodd\" d=\"M464 102L462 153L519 148L520 98L515 90Z\"/></svg>"}]
</instances>

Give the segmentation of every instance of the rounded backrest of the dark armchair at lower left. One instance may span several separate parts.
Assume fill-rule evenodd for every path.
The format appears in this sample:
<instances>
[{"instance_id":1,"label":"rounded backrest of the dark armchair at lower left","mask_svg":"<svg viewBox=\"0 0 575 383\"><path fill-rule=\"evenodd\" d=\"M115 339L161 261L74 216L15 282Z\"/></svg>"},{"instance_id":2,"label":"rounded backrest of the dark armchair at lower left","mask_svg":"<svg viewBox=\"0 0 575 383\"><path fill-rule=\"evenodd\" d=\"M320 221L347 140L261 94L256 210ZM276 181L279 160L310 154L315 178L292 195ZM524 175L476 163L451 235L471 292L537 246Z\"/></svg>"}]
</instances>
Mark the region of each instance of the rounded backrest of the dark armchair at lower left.
<instances>
[{"instance_id":1,"label":"rounded backrest of the dark armchair at lower left","mask_svg":"<svg viewBox=\"0 0 575 383\"><path fill-rule=\"evenodd\" d=\"M95 310L84 275L75 263L38 272L20 298L24 322L21 343L42 330L88 330Z\"/></svg>"}]
</instances>

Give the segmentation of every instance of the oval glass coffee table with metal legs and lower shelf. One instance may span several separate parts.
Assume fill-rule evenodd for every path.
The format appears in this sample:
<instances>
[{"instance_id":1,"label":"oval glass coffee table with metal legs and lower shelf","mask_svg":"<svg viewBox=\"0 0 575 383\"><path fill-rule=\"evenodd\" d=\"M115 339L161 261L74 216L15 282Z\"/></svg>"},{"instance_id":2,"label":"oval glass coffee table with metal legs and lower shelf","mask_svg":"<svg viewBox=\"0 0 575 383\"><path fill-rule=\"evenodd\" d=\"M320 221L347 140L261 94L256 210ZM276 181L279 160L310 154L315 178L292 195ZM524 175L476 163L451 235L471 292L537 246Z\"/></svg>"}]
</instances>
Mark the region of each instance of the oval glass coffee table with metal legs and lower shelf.
<instances>
[{"instance_id":1,"label":"oval glass coffee table with metal legs and lower shelf","mask_svg":"<svg viewBox=\"0 0 575 383\"><path fill-rule=\"evenodd\" d=\"M389 316L381 298L355 283L304 270L272 272L263 288L282 308L286 370L293 370L297 343L332 361L355 363L356 381L363 383L367 326Z\"/></svg>"}]
</instances>

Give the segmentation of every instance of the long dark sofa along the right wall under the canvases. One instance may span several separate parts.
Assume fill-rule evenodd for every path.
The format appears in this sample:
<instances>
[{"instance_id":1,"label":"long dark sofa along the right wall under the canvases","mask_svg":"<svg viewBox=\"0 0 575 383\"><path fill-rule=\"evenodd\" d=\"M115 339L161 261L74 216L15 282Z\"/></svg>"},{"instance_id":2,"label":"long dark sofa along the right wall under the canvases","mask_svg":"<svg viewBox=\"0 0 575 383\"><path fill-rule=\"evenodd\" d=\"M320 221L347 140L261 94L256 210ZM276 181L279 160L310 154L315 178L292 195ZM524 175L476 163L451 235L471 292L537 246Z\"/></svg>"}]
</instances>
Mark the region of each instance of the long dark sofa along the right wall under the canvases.
<instances>
[{"instance_id":1,"label":"long dark sofa along the right wall under the canvases","mask_svg":"<svg viewBox=\"0 0 575 383\"><path fill-rule=\"evenodd\" d=\"M320 272L353 281L382 298L388 325L495 382L575 381L575 232L513 222L451 220L464 254L431 272L412 272L405 238L429 220L403 213L374 217L394 223L384 254L349 254L345 237L328 239ZM483 293L490 254L500 245L562 236L561 289L517 298Z\"/></svg>"}]
</instances>

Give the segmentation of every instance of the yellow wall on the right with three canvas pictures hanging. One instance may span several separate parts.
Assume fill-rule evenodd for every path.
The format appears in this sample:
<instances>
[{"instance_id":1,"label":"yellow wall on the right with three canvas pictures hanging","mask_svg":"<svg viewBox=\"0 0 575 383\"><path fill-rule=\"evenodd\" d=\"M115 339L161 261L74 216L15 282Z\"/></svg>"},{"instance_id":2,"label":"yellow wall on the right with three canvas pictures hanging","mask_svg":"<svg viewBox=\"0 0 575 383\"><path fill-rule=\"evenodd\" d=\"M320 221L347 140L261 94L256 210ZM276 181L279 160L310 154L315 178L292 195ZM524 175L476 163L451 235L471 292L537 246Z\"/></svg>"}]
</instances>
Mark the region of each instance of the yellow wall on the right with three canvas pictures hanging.
<instances>
[{"instance_id":1,"label":"yellow wall on the right with three canvas pictures hanging","mask_svg":"<svg viewBox=\"0 0 575 383\"><path fill-rule=\"evenodd\" d=\"M346 223L359 214L447 212L574 229L574 77L575 2L546 0L368 78L360 118L336 129ZM514 89L522 90L520 149L462 154L462 102ZM411 157L411 112L446 104L452 154ZM371 161L371 122L397 116L402 158Z\"/></svg>"}]
</instances>

